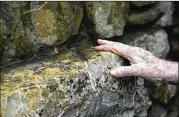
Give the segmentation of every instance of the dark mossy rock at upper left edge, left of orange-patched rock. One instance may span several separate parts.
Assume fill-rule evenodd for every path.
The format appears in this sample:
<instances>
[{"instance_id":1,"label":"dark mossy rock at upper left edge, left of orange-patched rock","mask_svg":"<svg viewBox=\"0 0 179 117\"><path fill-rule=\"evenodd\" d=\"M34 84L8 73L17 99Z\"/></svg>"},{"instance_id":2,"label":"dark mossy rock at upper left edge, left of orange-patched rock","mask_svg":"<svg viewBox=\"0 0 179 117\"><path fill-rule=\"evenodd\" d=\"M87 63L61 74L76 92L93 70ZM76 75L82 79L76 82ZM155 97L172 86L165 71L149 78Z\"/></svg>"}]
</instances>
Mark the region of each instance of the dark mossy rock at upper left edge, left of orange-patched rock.
<instances>
[{"instance_id":1,"label":"dark mossy rock at upper left edge, left of orange-patched rock","mask_svg":"<svg viewBox=\"0 0 179 117\"><path fill-rule=\"evenodd\" d=\"M28 40L26 35L22 9L26 7L27 2L1 2L1 25L5 29L5 42L1 45L4 49L3 59L8 61L15 55L21 56L34 52L38 46L35 46Z\"/></svg>"}]
</instances>

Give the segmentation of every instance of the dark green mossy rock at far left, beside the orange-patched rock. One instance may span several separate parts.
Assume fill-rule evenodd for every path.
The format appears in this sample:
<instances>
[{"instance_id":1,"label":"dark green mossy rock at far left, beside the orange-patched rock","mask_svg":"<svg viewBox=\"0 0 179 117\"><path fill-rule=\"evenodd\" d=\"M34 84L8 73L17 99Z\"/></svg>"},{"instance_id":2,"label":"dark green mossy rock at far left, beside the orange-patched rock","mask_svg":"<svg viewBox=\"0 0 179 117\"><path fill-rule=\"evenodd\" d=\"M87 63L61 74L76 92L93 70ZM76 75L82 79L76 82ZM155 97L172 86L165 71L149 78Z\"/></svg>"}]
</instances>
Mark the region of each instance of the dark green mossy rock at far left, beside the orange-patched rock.
<instances>
[{"instance_id":1,"label":"dark green mossy rock at far left, beside the orange-patched rock","mask_svg":"<svg viewBox=\"0 0 179 117\"><path fill-rule=\"evenodd\" d=\"M28 2L2 2L2 23L4 26L1 29L5 29L1 39L2 48L5 48L3 53L3 61L5 63L14 62L21 58L32 57L36 52L38 46L31 41L31 37L28 35L29 26L27 21L31 19L28 15L23 14L23 10L30 9ZM25 20L27 19L28 20ZM28 24L28 25L27 25Z\"/></svg>"}]
</instances>

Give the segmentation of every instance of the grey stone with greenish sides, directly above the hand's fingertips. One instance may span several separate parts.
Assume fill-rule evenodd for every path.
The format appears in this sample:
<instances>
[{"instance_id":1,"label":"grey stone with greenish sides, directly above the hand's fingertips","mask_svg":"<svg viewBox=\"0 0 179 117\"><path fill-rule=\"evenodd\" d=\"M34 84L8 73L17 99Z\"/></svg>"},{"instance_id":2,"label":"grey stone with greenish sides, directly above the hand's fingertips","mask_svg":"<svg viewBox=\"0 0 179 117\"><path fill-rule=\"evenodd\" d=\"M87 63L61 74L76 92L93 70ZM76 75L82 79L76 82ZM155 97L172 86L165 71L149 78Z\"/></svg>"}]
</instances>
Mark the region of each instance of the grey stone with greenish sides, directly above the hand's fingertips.
<instances>
[{"instance_id":1,"label":"grey stone with greenish sides, directly above the hand's fingertips","mask_svg":"<svg viewBox=\"0 0 179 117\"><path fill-rule=\"evenodd\" d=\"M121 36L128 17L128 2L86 2L89 28L99 38Z\"/></svg>"}]
</instances>

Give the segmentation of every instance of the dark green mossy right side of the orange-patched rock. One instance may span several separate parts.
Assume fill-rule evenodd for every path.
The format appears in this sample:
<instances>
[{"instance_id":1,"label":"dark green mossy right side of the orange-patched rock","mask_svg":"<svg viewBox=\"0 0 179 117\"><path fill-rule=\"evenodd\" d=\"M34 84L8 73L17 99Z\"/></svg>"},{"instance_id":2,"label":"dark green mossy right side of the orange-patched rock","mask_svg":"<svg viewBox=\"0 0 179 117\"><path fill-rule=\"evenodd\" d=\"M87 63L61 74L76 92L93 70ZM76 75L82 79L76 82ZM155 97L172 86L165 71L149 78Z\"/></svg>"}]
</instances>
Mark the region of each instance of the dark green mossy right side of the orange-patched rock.
<instances>
[{"instance_id":1,"label":"dark green mossy right side of the orange-patched rock","mask_svg":"<svg viewBox=\"0 0 179 117\"><path fill-rule=\"evenodd\" d=\"M76 35L83 17L83 10L68 2L60 2L56 12L56 31L58 33L58 44L65 42L70 36Z\"/></svg>"}]
</instances>

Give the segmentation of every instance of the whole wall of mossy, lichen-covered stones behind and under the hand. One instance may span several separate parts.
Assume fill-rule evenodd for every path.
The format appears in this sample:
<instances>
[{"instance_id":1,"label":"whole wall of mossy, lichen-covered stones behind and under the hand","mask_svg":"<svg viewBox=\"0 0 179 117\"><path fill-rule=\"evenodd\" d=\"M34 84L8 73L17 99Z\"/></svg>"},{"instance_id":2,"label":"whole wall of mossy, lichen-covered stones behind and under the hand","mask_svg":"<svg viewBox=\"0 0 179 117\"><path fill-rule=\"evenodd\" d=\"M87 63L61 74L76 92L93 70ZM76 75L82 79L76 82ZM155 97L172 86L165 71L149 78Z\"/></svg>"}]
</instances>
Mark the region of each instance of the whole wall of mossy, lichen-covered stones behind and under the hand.
<instances>
[{"instance_id":1,"label":"whole wall of mossy, lichen-covered stones behind and under the hand","mask_svg":"<svg viewBox=\"0 0 179 117\"><path fill-rule=\"evenodd\" d=\"M179 88L112 78L98 38L179 61L178 2L0 2L2 117L177 117Z\"/></svg>"}]
</instances>

